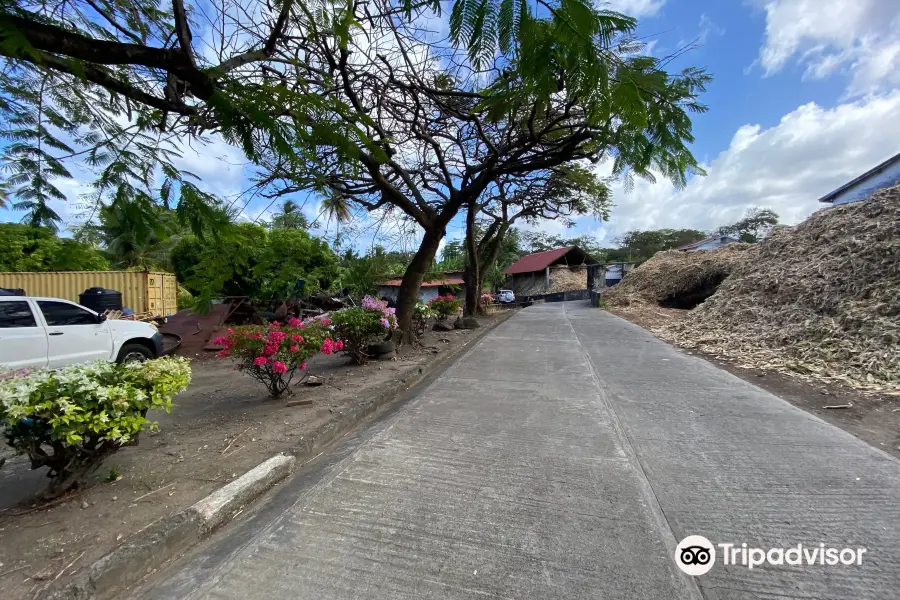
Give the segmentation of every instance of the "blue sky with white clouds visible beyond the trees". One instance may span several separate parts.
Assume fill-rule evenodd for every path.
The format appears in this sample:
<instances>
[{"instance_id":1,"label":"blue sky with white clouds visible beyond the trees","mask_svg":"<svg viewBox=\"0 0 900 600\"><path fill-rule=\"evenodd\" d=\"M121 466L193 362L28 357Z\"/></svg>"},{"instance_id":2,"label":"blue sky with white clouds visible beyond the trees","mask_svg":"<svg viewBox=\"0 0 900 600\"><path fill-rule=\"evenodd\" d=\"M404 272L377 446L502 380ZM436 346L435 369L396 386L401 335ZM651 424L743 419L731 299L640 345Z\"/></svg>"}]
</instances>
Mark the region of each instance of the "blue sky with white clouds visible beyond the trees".
<instances>
[{"instance_id":1,"label":"blue sky with white clouds visible beyond the trees","mask_svg":"<svg viewBox=\"0 0 900 600\"><path fill-rule=\"evenodd\" d=\"M692 41L672 64L706 67L715 79L696 116L695 156L708 176L684 190L665 181L615 184L608 223L579 219L536 229L588 234L611 244L631 229L709 230L768 206L793 224L820 205L816 199L900 152L900 0L612 0L610 8L639 19L648 50L663 57ZM240 151L220 141L186 150L183 166L210 191L233 195L246 186ZM608 166L601 165L601 173ZM59 182L72 201L89 173ZM268 201L251 202L248 218L265 217ZM65 207L63 211L65 211ZM318 215L317 202L305 207ZM0 212L16 220L17 213ZM333 232L333 228L332 228ZM448 229L461 236L461 223ZM415 243L405 236L402 246ZM396 245L390 233L357 239Z\"/></svg>"}]
</instances>

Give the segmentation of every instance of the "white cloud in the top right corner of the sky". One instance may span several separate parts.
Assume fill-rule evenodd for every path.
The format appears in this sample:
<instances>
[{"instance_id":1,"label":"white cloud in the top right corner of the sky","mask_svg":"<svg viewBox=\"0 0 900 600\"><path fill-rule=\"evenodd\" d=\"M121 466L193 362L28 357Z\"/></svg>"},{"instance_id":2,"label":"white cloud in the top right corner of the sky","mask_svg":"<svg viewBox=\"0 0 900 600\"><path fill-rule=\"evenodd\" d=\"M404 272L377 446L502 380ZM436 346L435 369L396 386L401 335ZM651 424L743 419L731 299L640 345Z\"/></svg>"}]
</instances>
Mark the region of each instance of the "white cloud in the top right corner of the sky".
<instances>
[{"instance_id":1,"label":"white cloud in the top right corner of the sky","mask_svg":"<svg viewBox=\"0 0 900 600\"><path fill-rule=\"evenodd\" d=\"M851 74L849 96L900 84L900 3L887 0L761 0L766 36L759 62L767 75L796 57L804 77Z\"/></svg>"}]
</instances>

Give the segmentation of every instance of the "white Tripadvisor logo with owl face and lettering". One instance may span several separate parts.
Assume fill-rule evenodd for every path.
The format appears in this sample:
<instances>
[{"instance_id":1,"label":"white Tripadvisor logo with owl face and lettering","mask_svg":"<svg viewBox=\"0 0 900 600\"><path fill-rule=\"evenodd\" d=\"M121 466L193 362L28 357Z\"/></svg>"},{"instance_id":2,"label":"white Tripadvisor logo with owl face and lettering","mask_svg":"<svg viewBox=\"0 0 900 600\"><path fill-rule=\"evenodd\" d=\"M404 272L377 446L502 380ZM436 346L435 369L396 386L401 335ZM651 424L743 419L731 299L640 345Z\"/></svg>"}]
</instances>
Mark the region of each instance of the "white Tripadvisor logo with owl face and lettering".
<instances>
[{"instance_id":1,"label":"white Tripadvisor logo with owl face and lettering","mask_svg":"<svg viewBox=\"0 0 900 600\"><path fill-rule=\"evenodd\" d=\"M723 565L743 566L754 569L766 564L789 565L824 565L833 567L842 565L862 565L866 548L833 548L825 544L804 546L797 544L789 548L752 548L743 544L713 544L702 535L689 535L681 540L675 548L675 564L688 575L705 575L716 563L716 548L719 550Z\"/></svg>"}]
</instances>

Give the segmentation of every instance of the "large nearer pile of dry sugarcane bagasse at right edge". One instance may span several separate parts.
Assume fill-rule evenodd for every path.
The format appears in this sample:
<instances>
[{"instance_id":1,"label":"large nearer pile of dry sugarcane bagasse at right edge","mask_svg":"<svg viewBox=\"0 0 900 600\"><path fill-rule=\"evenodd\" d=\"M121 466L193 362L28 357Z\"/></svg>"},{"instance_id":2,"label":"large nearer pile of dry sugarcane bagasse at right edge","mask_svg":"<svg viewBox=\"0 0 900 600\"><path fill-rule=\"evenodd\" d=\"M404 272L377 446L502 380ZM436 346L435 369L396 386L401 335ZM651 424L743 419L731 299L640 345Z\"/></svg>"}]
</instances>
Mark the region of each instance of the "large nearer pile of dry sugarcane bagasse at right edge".
<instances>
[{"instance_id":1,"label":"large nearer pile of dry sugarcane bagasse at right edge","mask_svg":"<svg viewBox=\"0 0 900 600\"><path fill-rule=\"evenodd\" d=\"M740 366L900 395L900 186L777 227L743 256L655 333Z\"/></svg>"}]
</instances>

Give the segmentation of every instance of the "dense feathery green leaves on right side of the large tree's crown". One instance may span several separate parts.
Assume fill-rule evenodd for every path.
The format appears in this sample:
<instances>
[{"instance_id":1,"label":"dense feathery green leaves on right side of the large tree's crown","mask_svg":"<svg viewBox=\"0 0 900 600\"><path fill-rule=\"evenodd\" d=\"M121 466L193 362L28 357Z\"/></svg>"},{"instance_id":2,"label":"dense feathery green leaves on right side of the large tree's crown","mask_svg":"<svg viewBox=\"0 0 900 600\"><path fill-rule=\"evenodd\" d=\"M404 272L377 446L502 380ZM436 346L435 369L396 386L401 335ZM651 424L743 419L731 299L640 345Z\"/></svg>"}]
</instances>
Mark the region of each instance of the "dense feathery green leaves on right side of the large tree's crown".
<instances>
[{"instance_id":1,"label":"dense feathery green leaves on right side of the large tree's crown","mask_svg":"<svg viewBox=\"0 0 900 600\"><path fill-rule=\"evenodd\" d=\"M652 166L683 187L686 175L702 173L685 145L693 141L687 113L706 110L696 93L709 75L696 68L670 75L664 62L641 55L631 17L590 0L541 4L545 16L522 0L454 2L450 35L476 68L498 50L512 67L484 93L481 106L492 120L540 113L564 91L588 122L619 121L614 176L652 180Z\"/></svg>"}]
</instances>

